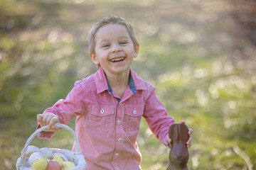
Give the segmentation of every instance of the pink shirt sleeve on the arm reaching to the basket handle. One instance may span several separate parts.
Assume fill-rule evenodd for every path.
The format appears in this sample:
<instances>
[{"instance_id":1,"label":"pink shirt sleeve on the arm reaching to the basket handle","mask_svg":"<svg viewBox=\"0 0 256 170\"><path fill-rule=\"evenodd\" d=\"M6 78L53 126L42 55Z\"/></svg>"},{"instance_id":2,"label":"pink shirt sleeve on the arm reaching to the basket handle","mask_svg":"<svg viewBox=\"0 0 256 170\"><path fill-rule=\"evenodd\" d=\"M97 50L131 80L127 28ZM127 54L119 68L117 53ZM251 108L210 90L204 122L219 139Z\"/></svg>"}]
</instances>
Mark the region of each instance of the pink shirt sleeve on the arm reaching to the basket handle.
<instances>
[{"instance_id":1,"label":"pink shirt sleeve on the arm reaching to the basket handle","mask_svg":"<svg viewBox=\"0 0 256 170\"><path fill-rule=\"evenodd\" d=\"M77 81L65 100L60 99L53 107L46 108L43 114L53 113L58 115L59 122L68 125L70 120L77 115L85 113L84 97L85 94L82 91L82 86L79 84L79 81ZM37 128L41 128L39 123ZM55 132L40 132L38 137L49 139L53 137L54 134Z\"/></svg>"}]
</instances>

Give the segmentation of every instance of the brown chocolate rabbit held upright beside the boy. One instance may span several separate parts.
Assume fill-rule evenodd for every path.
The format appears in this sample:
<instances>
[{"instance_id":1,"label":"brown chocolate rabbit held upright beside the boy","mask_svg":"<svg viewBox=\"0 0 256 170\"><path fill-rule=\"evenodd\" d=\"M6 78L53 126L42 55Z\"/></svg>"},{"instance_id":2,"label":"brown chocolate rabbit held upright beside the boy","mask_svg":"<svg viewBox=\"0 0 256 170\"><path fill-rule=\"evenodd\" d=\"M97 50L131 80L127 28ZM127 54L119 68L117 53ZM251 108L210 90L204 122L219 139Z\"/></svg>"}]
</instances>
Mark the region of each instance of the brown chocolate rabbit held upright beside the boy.
<instances>
[{"instance_id":1,"label":"brown chocolate rabbit held upright beside the boy","mask_svg":"<svg viewBox=\"0 0 256 170\"><path fill-rule=\"evenodd\" d=\"M183 123L171 124L169 128L171 139L171 151L169 154L169 166L166 170L188 170L188 148L186 142L189 139L188 127Z\"/></svg>"}]
</instances>

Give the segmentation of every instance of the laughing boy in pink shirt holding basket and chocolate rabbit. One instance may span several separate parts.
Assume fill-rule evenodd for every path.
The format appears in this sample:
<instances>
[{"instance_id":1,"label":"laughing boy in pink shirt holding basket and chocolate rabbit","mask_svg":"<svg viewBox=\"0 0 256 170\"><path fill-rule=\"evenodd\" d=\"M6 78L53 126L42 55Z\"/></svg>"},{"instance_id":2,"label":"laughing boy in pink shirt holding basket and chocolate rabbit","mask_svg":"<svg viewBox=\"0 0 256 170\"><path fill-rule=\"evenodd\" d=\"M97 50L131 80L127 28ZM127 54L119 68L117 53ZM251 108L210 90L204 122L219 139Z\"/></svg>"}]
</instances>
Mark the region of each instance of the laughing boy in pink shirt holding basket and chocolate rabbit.
<instances>
[{"instance_id":1,"label":"laughing boy in pink shirt holding basket and chocolate rabbit","mask_svg":"<svg viewBox=\"0 0 256 170\"><path fill-rule=\"evenodd\" d=\"M130 69L139 43L127 21L119 16L97 21L89 33L89 52L100 69L76 81L65 100L37 115L38 128L49 125L39 137L52 137L59 130L54 123L68 125L76 117L75 132L88 170L139 170L142 156L137 136L141 118L166 146L171 142L168 132L174 118L167 115L154 87Z\"/></svg>"}]
</instances>

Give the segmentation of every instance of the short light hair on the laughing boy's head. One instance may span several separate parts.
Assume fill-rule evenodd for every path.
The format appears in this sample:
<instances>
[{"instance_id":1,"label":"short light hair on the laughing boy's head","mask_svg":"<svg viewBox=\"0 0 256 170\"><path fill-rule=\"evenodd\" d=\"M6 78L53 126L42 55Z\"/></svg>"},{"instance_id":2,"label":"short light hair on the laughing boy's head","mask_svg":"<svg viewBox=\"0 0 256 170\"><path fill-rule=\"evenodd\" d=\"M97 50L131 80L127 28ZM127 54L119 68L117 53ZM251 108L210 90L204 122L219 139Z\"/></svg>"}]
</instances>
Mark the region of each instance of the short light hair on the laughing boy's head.
<instances>
[{"instance_id":1,"label":"short light hair on the laughing boy's head","mask_svg":"<svg viewBox=\"0 0 256 170\"><path fill-rule=\"evenodd\" d=\"M95 33L97 33L97 30L102 28L102 26L106 26L107 24L110 24L110 23L121 24L122 26L127 28L127 31L132 39L134 47L136 47L139 44L139 42L137 41L134 35L134 30L130 23L128 23L127 21L124 20L124 18L121 18L119 16L108 16L106 18L103 18L100 21L96 21L95 25L92 26L92 28L90 29L90 32L88 34L90 53L95 54Z\"/></svg>"}]
</instances>

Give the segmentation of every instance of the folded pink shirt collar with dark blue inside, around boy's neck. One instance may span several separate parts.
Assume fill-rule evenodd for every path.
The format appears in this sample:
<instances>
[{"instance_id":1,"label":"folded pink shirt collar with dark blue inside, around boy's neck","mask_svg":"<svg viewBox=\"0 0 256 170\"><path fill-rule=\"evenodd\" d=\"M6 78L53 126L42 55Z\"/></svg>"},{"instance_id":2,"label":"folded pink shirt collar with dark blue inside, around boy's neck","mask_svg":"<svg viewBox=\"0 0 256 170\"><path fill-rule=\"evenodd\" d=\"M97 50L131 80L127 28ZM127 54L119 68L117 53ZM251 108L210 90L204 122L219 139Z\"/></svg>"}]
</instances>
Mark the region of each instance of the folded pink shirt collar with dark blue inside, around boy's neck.
<instances>
[{"instance_id":1,"label":"folded pink shirt collar with dark blue inside, around boy's neck","mask_svg":"<svg viewBox=\"0 0 256 170\"><path fill-rule=\"evenodd\" d=\"M110 94L112 94L112 89L107 83L105 72L102 67L100 67L100 69L95 73L94 79L97 94L100 94L102 91L106 90L110 91ZM136 94L137 90L146 89L144 80L139 77L139 75L136 74L132 69L130 69L129 74L129 89L131 89L133 94Z\"/></svg>"}]
</instances>

